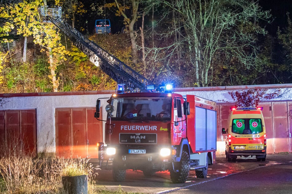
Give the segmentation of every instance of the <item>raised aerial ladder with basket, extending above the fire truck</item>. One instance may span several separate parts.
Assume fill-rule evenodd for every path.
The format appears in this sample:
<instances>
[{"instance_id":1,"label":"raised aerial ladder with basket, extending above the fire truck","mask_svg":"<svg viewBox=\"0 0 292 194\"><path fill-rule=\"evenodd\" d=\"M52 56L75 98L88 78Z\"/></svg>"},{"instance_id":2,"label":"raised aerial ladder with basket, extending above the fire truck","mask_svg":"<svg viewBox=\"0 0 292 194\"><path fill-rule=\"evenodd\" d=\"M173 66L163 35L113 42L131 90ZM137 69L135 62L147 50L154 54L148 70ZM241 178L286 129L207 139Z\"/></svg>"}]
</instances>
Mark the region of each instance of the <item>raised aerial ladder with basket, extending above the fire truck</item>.
<instances>
[{"instance_id":1,"label":"raised aerial ladder with basket, extending above the fire truck","mask_svg":"<svg viewBox=\"0 0 292 194\"><path fill-rule=\"evenodd\" d=\"M118 58L109 54L75 28L72 28L70 24L62 20L61 7L48 8L47 6L41 6L38 11L41 22L53 23L77 48L89 57L89 60L94 65L99 67L118 84L124 84L125 88L140 91L147 91L146 86L154 85L153 82L140 75Z\"/></svg>"}]
</instances>

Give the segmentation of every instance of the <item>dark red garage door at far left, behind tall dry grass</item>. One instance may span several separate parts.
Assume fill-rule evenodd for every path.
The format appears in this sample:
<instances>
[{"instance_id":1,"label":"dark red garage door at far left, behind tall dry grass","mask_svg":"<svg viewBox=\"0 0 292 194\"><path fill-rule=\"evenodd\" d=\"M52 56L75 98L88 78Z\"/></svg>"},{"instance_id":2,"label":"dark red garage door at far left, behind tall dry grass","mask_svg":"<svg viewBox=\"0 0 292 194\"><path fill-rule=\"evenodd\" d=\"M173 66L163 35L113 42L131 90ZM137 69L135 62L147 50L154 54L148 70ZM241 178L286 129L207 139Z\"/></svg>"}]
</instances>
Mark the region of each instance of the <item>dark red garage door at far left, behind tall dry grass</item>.
<instances>
[{"instance_id":1,"label":"dark red garage door at far left, behind tall dry grass","mask_svg":"<svg viewBox=\"0 0 292 194\"><path fill-rule=\"evenodd\" d=\"M29 154L37 153L36 109L0 110L1 152Z\"/></svg>"}]
</instances>

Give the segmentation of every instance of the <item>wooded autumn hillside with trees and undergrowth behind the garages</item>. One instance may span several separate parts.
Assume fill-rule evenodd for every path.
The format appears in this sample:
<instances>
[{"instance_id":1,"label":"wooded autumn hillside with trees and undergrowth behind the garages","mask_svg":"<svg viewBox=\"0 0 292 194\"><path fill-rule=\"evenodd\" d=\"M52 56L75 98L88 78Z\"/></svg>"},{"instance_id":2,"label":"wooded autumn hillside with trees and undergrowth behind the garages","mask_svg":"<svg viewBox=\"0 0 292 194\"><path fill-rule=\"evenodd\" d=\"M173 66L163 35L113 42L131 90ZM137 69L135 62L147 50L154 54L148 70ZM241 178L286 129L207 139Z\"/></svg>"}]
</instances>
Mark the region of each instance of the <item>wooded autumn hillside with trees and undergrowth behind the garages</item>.
<instances>
[{"instance_id":1,"label":"wooded autumn hillside with trees and undergrowth behind the garages","mask_svg":"<svg viewBox=\"0 0 292 194\"><path fill-rule=\"evenodd\" d=\"M291 19L273 22L259 1L47 1L63 19L155 84L175 87L291 83ZM114 90L115 81L52 24L39 0L0 6L0 92ZM17 8L17 9L14 9ZM16 11L17 10L17 11ZM133 15L135 14L135 16ZM112 34L94 34L109 18Z\"/></svg>"}]
</instances>

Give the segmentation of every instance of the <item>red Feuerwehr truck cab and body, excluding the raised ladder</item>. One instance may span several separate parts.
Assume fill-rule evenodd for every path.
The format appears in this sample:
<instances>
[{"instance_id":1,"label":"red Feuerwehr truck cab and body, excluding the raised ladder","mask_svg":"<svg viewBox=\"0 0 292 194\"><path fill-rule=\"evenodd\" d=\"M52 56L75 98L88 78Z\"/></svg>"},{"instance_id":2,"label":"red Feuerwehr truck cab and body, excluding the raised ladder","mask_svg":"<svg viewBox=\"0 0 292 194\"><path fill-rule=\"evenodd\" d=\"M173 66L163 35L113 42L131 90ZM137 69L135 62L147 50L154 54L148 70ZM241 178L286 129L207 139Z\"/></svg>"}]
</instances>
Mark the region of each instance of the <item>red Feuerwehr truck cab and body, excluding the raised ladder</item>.
<instances>
[{"instance_id":1,"label":"red Feuerwehr truck cab and body, excluding the raised ladder","mask_svg":"<svg viewBox=\"0 0 292 194\"><path fill-rule=\"evenodd\" d=\"M163 93L118 88L108 100L105 153L113 160L115 181L123 181L127 169L142 170L146 177L169 170L173 183L184 183L189 170L205 178L215 162L216 103L168 87ZM100 99L96 118L99 109Z\"/></svg>"}]
</instances>

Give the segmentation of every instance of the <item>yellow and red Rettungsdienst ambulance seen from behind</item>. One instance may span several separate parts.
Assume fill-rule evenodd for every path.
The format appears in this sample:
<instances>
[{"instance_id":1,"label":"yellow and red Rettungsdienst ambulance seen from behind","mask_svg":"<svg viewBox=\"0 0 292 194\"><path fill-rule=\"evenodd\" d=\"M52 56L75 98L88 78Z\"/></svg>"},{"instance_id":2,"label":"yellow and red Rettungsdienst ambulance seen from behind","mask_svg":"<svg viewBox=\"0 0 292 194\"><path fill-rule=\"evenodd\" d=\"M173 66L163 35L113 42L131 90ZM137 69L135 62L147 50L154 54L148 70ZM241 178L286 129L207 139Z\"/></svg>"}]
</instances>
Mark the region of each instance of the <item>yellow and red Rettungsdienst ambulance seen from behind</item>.
<instances>
[{"instance_id":1,"label":"yellow and red Rettungsdienst ambulance seen from behind","mask_svg":"<svg viewBox=\"0 0 292 194\"><path fill-rule=\"evenodd\" d=\"M225 138L225 155L228 161L237 156L255 156L257 161L265 161L267 155L267 134L262 113L263 107L232 108L228 128L222 128Z\"/></svg>"}]
</instances>

